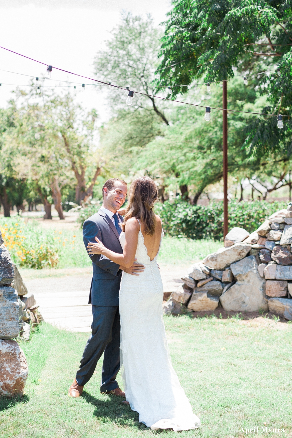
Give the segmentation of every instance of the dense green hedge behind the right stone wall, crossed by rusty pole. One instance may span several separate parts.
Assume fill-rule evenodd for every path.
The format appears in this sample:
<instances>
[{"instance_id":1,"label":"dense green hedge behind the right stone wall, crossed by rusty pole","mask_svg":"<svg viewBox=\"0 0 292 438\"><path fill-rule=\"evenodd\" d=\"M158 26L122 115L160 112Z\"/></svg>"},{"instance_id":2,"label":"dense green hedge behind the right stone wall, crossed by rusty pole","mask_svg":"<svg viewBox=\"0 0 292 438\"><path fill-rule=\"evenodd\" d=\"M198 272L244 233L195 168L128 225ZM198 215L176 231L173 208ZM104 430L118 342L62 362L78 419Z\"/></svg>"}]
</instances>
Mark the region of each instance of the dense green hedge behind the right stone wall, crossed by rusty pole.
<instances>
[{"instance_id":1,"label":"dense green hedge behind the right stone wall, crossed by rusty pole","mask_svg":"<svg viewBox=\"0 0 292 438\"><path fill-rule=\"evenodd\" d=\"M251 233L272 213L286 207L286 202L278 201L230 201L229 230L240 226ZM177 197L174 201L156 204L155 212L161 217L163 230L169 236L213 240L223 238L223 201L211 202L207 206L190 205Z\"/></svg>"}]
</instances>

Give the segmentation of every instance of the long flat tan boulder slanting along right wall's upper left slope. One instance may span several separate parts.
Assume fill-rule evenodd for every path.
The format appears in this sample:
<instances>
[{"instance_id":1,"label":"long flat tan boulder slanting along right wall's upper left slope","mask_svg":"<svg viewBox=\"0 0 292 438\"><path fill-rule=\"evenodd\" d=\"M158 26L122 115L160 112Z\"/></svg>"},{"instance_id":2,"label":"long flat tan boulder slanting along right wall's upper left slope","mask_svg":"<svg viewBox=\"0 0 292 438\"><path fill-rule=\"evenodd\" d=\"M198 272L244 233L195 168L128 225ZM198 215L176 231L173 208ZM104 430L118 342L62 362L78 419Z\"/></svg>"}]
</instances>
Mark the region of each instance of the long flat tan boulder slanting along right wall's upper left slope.
<instances>
[{"instance_id":1,"label":"long flat tan boulder slanting along right wall's upper left slope","mask_svg":"<svg viewBox=\"0 0 292 438\"><path fill-rule=\"evenodd\" d=\"M250 252L251 245L240 243L232 247L220 248L204 258L204 264L212 269L225 269L231 263L241 260Z\"/></svg>"}]
</instances>

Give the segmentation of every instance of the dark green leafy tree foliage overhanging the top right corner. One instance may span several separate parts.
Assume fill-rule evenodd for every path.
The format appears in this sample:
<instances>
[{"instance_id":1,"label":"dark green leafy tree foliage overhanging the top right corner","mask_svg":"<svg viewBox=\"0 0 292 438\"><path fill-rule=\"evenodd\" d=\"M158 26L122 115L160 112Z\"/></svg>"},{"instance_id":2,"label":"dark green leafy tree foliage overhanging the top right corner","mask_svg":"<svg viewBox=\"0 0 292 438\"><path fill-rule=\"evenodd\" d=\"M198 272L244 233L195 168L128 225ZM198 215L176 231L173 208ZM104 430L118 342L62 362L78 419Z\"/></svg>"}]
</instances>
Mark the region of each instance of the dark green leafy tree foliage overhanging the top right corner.
<instances>
[{"instance_id":1,"label":"dark green leafy tree foliage overhanging the top right corner","mask_svg":"<svg viewBox=\"0 0 292 438\"><path fill-rule=\"evenodd\" d=\"M160 55L159 85L182 85L249 74L249 84L266 96L263 113L289 115L292 103L292 3L290 0L174 0ZM175 65L174 65L175 64ZM171 67L172 66L172 67ZM259 74L261 71L277 73ZM244 145L251 155L292 153L292 120L277 129L275 117L253 117Z\"/></svg>"}]
</instances>

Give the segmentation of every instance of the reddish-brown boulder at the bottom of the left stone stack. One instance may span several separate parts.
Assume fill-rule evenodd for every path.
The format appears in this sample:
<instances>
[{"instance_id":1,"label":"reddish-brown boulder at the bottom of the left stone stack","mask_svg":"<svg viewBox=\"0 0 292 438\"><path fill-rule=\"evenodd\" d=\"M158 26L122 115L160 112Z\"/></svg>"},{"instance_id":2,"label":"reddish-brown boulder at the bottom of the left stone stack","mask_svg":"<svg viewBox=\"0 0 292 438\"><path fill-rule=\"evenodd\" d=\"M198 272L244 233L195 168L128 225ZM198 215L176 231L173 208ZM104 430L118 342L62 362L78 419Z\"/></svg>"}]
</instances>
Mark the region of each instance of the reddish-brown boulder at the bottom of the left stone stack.
<instances>
[{"instance_id":1,"label":"reddish-brown boulder at the bottom of the left stone stack","mask_svg":"<svg viewBox=\"0 0 292 438\"><path fill-rule=\"evenodd\" d=\"M0 339L0 396L22 396L28 377L25 353L16 341Z\"/></svg>"}]
</instances>

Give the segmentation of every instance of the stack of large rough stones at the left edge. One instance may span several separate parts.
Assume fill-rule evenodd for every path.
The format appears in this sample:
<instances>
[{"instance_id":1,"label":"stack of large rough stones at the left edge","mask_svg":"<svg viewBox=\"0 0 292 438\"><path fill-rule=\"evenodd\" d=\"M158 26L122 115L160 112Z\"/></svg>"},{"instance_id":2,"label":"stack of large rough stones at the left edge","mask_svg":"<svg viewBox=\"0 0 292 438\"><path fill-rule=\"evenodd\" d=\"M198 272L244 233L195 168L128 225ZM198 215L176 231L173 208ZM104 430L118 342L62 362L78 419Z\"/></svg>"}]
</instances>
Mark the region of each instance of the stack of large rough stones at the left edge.
<instances>
[{"instance_id":1,"label":"stack of large rough stones at the left edge","mask_svg":"<svg viewBox=\"0 0 292 438\"><path fill-rule=\"evenodd\" d=\"M22 396L25 387L28 366L14 339L22 336L29 340L31 325L42 321L39 306L27 293L0 230L0 396Z\"/></svg>"}]
</instances>

